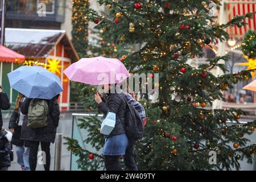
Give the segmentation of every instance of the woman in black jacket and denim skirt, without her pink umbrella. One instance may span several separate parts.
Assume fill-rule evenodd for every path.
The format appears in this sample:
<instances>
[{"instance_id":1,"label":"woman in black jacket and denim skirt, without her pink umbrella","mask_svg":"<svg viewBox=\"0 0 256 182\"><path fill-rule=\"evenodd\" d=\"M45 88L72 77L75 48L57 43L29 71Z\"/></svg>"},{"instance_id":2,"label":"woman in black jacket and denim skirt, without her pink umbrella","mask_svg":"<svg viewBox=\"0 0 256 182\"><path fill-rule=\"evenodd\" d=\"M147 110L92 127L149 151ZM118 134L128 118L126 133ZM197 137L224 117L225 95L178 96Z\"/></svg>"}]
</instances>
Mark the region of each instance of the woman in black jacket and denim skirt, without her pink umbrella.
<instances>
[{"instance_id":1,"label":"woman in black jacket and denim skirt, without her pink umbrella","mask_svg":"<svg viewBox=\"0 0 256 182\"><path fill-rule=\"evenodd\" d=\"M115 126L113 131L105 136L105 144L103 147L104 163L107 171L122 171L119 159L125 155L128 138L125 134L125 115L126 102L125 98L119 93L109 93L113 89L113 85L105 84L104 92L108 95L106 101L103 100L100 93L94 94L94 99L98 104L98 109L104 113L104 117L108 112L115 113Z\"/></svg>"}]
</instances>

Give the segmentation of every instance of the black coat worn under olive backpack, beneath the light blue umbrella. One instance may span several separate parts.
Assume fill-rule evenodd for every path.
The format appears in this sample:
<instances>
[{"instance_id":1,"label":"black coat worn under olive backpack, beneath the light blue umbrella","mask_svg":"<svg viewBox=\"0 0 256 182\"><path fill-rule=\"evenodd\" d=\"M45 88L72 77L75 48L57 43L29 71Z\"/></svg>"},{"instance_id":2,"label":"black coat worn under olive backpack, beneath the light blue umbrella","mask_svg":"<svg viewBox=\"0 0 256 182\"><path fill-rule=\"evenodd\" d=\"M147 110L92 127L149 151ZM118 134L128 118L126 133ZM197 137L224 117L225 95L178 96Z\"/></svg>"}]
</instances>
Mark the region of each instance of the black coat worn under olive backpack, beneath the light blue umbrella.
<instances>
[{"instance_id":1,"label":"black coat worn under olive backpack, beneath the light blue umbrella","mask_svg":"<svg viewBox=\"0 0 256 182\"><path fill-rule=\"evenodd\" d=\"M28 114L28 106L32 99L26 98L22 106L22 113ZM52 100L46 100L49 108L48 125L46 127L40 127L38 129L32 129L27 126L28 119L25 117L22 125L21 139L28 141L40 141L40 142L54 142L56 129L59 126L60 119L60 107L57 102L57 98Z\"/></svg>"}]
</instances>

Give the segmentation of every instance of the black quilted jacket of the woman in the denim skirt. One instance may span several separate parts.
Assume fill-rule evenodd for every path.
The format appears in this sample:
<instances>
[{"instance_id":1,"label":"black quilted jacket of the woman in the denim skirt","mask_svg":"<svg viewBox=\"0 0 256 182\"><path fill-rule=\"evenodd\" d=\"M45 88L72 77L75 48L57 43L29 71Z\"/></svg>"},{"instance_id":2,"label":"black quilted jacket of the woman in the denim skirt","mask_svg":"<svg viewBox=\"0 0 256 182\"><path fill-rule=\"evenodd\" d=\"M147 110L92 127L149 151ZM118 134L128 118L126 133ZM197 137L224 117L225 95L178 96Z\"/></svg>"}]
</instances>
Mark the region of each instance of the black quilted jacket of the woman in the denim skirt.
<instances>
[{"instance_id":1,"label":"black quilted jacket of the woman in the denim skirt","mask_svg":"<svg viewBox=\"0 0 256 182\"><path fill-rule=\"evenodd\" d=\"M125 128L123 126L125 125L126 107L125 98L122 94L118 93L108 94L106 101L98 104L98 108L104 114L104 118L108 114L108 111L115 113L115 127L112 133L106 137L109 138L115 135L125 134Z\"/></svg>"}]
</instances>

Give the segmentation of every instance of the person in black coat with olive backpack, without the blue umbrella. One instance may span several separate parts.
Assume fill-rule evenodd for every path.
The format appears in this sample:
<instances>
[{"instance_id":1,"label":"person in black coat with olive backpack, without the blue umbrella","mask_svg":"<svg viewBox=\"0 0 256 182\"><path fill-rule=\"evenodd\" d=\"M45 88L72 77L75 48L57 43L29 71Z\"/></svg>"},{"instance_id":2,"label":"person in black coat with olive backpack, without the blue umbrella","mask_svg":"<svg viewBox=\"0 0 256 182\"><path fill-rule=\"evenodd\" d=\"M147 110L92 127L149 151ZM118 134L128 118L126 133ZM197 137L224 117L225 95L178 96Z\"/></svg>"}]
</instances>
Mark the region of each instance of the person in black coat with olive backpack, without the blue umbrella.
<instances>
[{"instance_id":1,"label":"person in black coat with olive backpack, without the blue umbrella","mask_svg":"<svg viewBox=\"0 0 256 182\"><path fill-rule=\"evenodd\" d=\"M26 98L22 106L21 112L26 115L23 125L21 139L27 140L30 145L30 169L35 171L38 163L38 148L39 144L42 148L43 157L45 157L44 169L49 171L51 164L50 144L55 142L56 129L59 126L60 107L57 102L59 95L51 100L31 99ZM36 112L34 112L36 109ZM38 116L42 111L42 115ZM47 117L45 122L42 118ZM31 118L36 119L31 119ZM38 123L38 118L41 117L41 123ZM44 124L44 126L40 126ZM44 155L45 154L45 155Z\"/></svg>"}]
</instances>

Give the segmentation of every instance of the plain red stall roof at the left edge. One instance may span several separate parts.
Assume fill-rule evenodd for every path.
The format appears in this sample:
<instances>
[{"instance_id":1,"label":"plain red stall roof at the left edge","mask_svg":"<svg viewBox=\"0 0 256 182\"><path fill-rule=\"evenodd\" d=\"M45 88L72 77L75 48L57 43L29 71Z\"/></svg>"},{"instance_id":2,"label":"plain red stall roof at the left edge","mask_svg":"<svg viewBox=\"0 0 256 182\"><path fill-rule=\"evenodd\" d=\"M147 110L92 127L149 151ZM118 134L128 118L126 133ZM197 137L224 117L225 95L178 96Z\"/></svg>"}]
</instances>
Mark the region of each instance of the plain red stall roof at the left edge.
<instances>
[{"instance_id":1,"label":"plain red stall roof at the left edge","mask_svg":"<svg viewBox=\"0 0 256 182\"><path fill-rule=\"evenodd\" d=\"M23 63L25 60L24 55L20 55L19 53L0 45L0 62L8 62L8 63Z\"/></svg>"}]
</instances>

